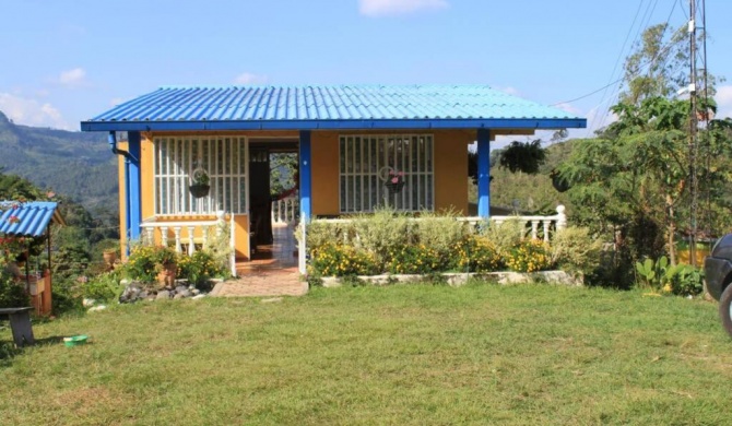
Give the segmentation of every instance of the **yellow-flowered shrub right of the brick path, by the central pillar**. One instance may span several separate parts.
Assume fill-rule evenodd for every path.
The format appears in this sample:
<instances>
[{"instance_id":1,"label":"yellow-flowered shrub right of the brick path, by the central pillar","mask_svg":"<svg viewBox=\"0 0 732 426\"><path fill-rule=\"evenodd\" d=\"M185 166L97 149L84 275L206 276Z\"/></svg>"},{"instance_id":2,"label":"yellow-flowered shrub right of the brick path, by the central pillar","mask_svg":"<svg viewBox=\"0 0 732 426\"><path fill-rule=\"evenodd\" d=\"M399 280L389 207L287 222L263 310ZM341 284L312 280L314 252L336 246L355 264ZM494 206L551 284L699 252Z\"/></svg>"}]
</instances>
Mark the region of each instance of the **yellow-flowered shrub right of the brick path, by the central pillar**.
<instances>
[{"instance_id":1,"label":"yellow-flowered shrub right of the brick path, by the central pillar","mask_svg":"<svg viewBox=\"0 0 732 426\"><path fill-rule=\"evenodd\" d=\"M309 268L308 272L317 276L370 275L378 272L373 253L335 244L314 250Z\"/></svg>"}]
</instances>

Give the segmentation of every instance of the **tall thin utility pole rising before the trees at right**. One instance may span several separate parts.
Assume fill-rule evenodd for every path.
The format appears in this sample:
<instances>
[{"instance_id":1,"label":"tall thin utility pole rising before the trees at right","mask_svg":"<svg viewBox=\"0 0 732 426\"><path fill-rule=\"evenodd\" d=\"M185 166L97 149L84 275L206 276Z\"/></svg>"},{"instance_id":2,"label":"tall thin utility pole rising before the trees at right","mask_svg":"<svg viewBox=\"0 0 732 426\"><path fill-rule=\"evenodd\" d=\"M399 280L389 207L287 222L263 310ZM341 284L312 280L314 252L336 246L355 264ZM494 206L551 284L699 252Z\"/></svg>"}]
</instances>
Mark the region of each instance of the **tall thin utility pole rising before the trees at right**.
<instances>
[{"instance_id":1,"label":"tall thin utility pole rising before the trees at right","mask_svg":"<svg viewBox=\"0 0 732 426\"><path fill-rule=\"evenodd\" d=\"M696 235L697 235L697 210L698 210L698 179L696 170L696 161L697 161L697 132L698 132L698 121L697 121L697 93L696 93L696 0L689 0L689 22L688 22L688 34L689 34L689 98L692 102L692 108L689 114L689 134L688 134L688 163L689 163L689 190L692 194L692 209L689 214L689 220L692 222L690 235L689 235L689 262L693 265L696 265Z\"/></svg>"}]
</instances>

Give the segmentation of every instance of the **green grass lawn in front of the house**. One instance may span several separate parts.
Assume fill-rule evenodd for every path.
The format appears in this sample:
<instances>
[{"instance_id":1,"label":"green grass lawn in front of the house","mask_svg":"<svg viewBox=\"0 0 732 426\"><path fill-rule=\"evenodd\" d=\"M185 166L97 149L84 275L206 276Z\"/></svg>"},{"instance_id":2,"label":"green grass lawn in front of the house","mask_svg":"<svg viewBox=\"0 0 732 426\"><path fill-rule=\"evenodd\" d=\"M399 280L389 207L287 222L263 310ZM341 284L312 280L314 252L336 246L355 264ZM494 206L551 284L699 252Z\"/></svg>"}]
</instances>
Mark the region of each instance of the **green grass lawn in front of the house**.
<instances>
[{"instance_id":1,"label":"green grass lawn in front of the house","mask_svg":"<svg viewBox=\"0 0 732 426\"><path fill-rule=\"evenodd\" d=\"M471 284L139 304L34 327L0 423L727 424L717 304ZM93 341L64 347L58 338ZM10 341L10 331L0 341Z\"/></svg>"}]
</instances>

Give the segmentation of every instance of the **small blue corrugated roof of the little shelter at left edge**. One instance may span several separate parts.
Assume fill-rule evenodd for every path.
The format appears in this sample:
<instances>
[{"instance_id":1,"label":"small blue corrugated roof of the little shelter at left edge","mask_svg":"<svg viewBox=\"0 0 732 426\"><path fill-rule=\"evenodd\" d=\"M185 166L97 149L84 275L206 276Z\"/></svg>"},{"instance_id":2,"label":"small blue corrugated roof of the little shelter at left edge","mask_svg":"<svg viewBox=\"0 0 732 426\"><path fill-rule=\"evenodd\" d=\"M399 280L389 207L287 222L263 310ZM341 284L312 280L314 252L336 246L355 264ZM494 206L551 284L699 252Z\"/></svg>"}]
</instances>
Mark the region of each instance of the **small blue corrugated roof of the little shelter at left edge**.
<instances>
[{"instance_id":1,"label":"small blue corrugated roof of the little shelter at left edge","mask_svg":"<svg viewBox=\"0 0 732 426\"><path fill-rule=\"evenodd\" d=\"M39 237L46 232L48 223L63 224L63 218L52 201L0 201L0 233L23 237ZM11 220L13 217L13 220ZM17 220L15 220L17 217Z\"/></svg>"}]
</instances>

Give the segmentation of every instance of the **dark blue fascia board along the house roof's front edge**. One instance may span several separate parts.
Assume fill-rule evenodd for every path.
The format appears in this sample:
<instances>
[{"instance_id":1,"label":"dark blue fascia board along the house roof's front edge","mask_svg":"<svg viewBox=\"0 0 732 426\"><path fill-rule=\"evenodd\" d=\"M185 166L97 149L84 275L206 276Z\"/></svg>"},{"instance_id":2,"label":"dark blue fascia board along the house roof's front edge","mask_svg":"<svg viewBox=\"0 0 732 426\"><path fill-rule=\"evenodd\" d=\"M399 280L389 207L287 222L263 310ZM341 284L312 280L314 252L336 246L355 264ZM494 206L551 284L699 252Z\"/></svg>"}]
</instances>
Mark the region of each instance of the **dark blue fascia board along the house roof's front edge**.
<instances>
[{"instance_id":1,"label":"dark blue fascia board along the house roof's front edge","mask_svg":"<svg viewBox=\"0 0 732 426\"><path fill-rule=\"evenodd\" d=\"M82 131L364 130L364 129L577 129L585 118L410 119L410 120L246 120L246 121L82 121Z\"/></svg>"}]
</instances>

